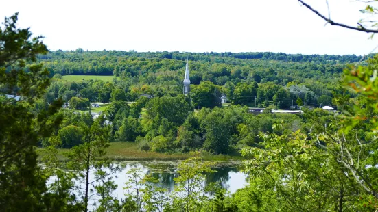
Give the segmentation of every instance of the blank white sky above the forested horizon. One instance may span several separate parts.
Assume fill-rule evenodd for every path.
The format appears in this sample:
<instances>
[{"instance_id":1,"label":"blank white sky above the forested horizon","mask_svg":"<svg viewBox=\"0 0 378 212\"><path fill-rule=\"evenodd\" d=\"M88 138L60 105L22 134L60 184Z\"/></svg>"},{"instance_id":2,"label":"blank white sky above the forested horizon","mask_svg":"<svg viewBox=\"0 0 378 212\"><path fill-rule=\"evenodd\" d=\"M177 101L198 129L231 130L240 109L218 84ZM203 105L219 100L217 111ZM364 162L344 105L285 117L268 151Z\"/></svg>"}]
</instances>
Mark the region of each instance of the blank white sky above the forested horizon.
<instances>
[{"instance_id":1,"label":"blank white sky above the forested horizon","mask_svg":"<svg viewBox=\"0 0 378 212\"><path fill-rule=\"evenodd\" d=\"M1 23L45 36L50 50L370 53L378 39L326 25L297 0L2 0ZM306 0L327 14L325 0ZM334 21L355 26L363 3L329 0ZM378 35L377 35L378 36Z\"/></svg>"}]
</instances>

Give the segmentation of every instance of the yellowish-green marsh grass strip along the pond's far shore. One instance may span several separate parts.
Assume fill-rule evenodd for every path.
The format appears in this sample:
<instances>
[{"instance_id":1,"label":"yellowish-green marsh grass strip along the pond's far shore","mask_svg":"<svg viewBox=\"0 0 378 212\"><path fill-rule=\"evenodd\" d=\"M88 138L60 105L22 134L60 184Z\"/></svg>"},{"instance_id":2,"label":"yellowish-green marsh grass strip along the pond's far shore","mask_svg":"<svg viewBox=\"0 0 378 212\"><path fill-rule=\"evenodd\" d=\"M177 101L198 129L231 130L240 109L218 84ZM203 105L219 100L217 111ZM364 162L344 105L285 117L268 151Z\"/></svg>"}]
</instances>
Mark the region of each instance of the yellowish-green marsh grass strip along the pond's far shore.
<instances>
[{"instance_id":1,"label":"yellowish-green marsh grass strip along the pond's far shore","mask_svg":"<svg viewBox=\"0 0 378 212\"><path fill-rule=\"evenodd\" d=\"M39 148L39 151L43 150ZM138 148L138 144L135 142L112 142L107 148L107 154L110 159L115 161L176 161L184 160L189 157L203 157L206 161L228 161L228 160L241 160L245 159L239 155L211 155L208 153L156 153L141 151ZM64 161L67 160L63 156L67 149L58 150L58 159ZM40 157L43 157L44 153L40 153Z\"/></svg>"}]
</instances>

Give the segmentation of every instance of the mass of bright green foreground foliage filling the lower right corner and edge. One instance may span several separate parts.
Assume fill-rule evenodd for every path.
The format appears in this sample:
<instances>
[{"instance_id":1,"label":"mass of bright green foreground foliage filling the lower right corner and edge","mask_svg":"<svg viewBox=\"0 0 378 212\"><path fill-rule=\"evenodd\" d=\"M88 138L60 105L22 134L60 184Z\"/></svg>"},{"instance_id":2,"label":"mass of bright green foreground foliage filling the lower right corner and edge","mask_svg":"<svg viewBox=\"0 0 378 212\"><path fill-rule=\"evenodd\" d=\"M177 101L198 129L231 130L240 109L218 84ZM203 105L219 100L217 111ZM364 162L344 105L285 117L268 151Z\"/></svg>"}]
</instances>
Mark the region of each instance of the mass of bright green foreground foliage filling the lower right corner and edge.
<instances>
[{"instance_id":1,"label":"mass of bright green foreground foliage filling the lower right corner and edge","mask_svg":"<svg viewBox=\"0 0 378 212\"><path fill-rule=\"evenodd\" d=\"M335 96L341 116L307 111L308 135L261 134L264 148L242 150L252 158L250 182L270 189L264 199L274 194L280 207L295 211L378 209L377 70L350 66L344 73L343 85L358 96Z\"/></svg>"}]
</instances>

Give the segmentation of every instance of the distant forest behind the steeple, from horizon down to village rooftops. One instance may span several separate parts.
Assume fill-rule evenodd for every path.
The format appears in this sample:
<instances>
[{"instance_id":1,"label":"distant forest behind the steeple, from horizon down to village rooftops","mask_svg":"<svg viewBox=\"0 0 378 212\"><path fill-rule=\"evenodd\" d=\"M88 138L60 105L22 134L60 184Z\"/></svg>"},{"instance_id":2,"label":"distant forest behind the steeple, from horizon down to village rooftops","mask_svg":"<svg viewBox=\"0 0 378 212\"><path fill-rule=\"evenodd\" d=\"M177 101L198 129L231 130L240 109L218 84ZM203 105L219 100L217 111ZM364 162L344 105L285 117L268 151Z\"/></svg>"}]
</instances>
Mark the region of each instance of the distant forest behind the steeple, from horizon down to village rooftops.
<instances>
[{"instance_id":1,"label":"distant forest behind the steeple, from horizon down to village rooftops","mask_svg":"<svg viewBox=\"0 0 378 212\"><path fill-rule=\"evenodd\" d=\"M237 55L251 55L250 57L254 55L254 59L249 59L250 57L239 59ZM65 100L69 101L71 96L82 95L92 102L96 100L108 102L110 90L115 88L121 88L126 92L127 101L134 101L141 94L177 96L182 91L186 58L190 60L190 80L193 87L191 90L194 92L201 82L209 81L216 85L215 90L226 94L230 101L255 107L263 107L265 103L265 107L268 107L274 101L274 94L280 88L285 88L290 94L281 92L279 98L284 101L280 104L282 109L296 105L298 97L305 105L313 107L331 104L329 99L334 92L339 92L338 80L343 68L349 63L363 59L355 55L137 53L82 49L38 55L39 61L43 62L51 77L54 75L120 77L119 81L115 81L112 85L106 83L93 85L90 81L73 82L70 85L56 81L51 85L50 92L54 89L56 98L66 98ZM211 85L206 84L206 86ZM107 90L107 94L99 95L100 90Z\"/></svg>"}]
</instances>

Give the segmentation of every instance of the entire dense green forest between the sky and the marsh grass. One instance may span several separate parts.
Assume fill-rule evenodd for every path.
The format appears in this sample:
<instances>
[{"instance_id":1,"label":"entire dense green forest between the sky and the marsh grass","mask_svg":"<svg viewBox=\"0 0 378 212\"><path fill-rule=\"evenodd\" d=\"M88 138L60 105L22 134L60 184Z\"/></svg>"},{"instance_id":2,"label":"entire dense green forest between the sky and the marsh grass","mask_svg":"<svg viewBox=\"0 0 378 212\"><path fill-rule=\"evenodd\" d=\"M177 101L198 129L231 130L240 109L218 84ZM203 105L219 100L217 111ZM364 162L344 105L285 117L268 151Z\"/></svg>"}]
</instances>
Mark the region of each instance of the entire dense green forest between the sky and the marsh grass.
<instances>
[{"instance_id":1,"label":"entire dense green forest between the sky and the marsh grass","mask_svg":"<svg viewBox=\"0 0 378 212\"><path fill-rule=\"evenodd\" d=\"M232 154L246 146L259 146L259 133L308 133L310 126L303 116L272 114L270 110L340 106L333 98L344 92L338 86L342 69L362 59L355 55L296 55L302 60L292 62L293 55L273 53L261 53L270 55L264 59L235 59L227 53L169 53L169 58L166 54L78 49L39 55L54 77L36 110L46 109L56 98L73 110L85 111L93 102L108 103L102 116L111 125L111 142L137 142L141 150L158 152ZM276 60L277 55L288 61ZM189 62L189 96L182 95L186 57L193 59ZM65 71L71 75L114 72L118 78L67 81ZM221 93L231 103L228 107L221 107ZM267 109L256 116L246 106ZM322 109L315 111L327 115ZM56 133L60 147L82 143L80 126L93 122L90 111L83 114L65 109L60 114L66 117ZM274 129L279 123L283 129ZM49 142L40 145L49 146Z\"/></svg>"}]
</instances>

